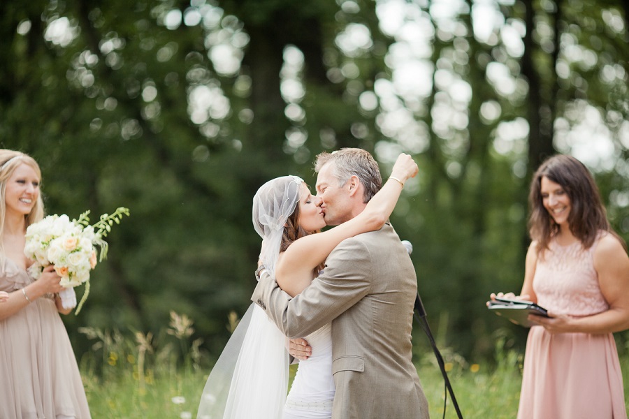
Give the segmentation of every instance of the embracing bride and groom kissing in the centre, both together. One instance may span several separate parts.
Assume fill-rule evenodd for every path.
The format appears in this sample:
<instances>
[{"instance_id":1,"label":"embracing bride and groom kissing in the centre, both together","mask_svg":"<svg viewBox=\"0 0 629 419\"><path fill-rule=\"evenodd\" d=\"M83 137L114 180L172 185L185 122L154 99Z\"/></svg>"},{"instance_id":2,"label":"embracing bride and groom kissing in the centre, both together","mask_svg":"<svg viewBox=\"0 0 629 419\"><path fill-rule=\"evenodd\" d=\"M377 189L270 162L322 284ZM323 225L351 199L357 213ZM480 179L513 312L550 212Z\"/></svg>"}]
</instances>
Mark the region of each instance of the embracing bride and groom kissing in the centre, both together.
<instances>
[{"instance_id":1,"label":"embracing bride and groom kissing in the centre, both together","mask_svg":"<svg viewBox=\"0 0 629 419\"><path fill-rule=\"evenodd\" d=\"M412 363L417 277L389 223L417 163L400 154L383 185L373 156L345 148L319 154L315 172L316 196L296 176L254 196L259 282L198 419L429 417ZM287 395L288 346L300 362Z\"/></svg>"}]
</instances>

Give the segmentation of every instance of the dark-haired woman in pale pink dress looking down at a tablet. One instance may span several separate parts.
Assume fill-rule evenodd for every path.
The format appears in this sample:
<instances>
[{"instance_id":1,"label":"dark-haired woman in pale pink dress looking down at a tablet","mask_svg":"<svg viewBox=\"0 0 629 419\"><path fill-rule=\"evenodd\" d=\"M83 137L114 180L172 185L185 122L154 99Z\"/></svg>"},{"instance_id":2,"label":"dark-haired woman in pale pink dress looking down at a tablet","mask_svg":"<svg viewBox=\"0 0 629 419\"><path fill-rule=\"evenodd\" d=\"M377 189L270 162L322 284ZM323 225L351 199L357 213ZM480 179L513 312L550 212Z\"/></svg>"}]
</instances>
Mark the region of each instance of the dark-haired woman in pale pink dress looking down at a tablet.
<instances>
[{"instance_id":1,"label":"dark-haired woman in pale pink dress looking down at a tablet","mask_svg":"<svg viewBox=\"0 0 629 419\"><path fill-rule=\"evenodd\" d=\"M518 418L627 418L612 335L629 328L626 244L610 228L590 172L571 156L542 163L529 206L533 242L516 298L551 318L529 316L537 325L528 333Z\"/></svg>"}]
</instances>

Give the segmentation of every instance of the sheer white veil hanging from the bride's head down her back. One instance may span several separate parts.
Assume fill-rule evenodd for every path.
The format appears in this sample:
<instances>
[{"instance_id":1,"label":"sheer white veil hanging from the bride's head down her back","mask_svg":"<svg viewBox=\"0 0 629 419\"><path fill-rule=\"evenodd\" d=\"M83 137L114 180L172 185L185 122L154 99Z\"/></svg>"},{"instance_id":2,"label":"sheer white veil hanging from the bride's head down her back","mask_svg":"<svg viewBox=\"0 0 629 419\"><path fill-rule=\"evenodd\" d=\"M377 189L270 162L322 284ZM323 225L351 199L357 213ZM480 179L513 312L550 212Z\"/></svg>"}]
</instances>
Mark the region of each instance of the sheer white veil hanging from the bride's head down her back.
<instances>
[{"instance_id":1,"label":"sheer white veil hanging from the bride's head down her back","mask_svg":"<svg viewBox=\"0 0 629 419\"><path fill-rule=\"evenodd\" d=\"M254 196L253 223L262 237L260 259L271 276L302 182L296 176L277 177ZM197 419L280 418L288 390L285 341L264 311L252 304L210 372Z\"/></svg>"}]
</instances>

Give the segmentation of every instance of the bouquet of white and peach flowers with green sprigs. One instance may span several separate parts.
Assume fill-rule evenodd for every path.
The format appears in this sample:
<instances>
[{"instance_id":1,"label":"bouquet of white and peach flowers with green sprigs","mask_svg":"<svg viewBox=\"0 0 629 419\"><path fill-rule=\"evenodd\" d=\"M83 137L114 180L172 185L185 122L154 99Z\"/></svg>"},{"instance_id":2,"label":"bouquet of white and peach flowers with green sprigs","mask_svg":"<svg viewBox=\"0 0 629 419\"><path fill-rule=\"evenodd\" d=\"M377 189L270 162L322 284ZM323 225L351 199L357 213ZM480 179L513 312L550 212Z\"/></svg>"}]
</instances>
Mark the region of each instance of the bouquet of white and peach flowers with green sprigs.
<instances>
[{"instance_id":1,"label":"bouquet of white and peach flowers with green sprigs","mask_svg":"<svg viewBox=\"0 0 629 419\"><path fill-rule=\"evenodd\" d=\"M85 293L75 314L81 310L89 295L89 272L96 267L96 262L107 257L108 245L103 237L110 232L113 223L120 223L122 215L129 215L129 210L118 208L113 214L103 214L98 223L89 225L89 211L70 220L67 215L49 215L27 228L24 254L34 260L29 267L29 274L34 279L41 276L44 267L55 266L55 272L61 277L64 290L59 293L64 309L76 307L75 286L85 284ZM97 255L96 248L100 248Z\"/></svg>"}]
</instances>

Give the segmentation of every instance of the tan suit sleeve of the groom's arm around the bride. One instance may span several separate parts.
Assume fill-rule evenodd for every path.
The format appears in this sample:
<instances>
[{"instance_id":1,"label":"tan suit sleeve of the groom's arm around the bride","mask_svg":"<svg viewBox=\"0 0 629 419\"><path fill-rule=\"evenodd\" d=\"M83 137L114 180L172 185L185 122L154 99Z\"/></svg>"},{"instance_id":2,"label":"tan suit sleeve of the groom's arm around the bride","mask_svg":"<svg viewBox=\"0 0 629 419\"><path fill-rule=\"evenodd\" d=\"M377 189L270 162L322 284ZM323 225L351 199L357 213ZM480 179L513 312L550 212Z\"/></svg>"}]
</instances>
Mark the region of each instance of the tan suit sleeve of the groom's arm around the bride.
<instances>
[{"instance_id":1,"label":"tan suit sleeve of the groom's arm around the bride","mask_svg":"<svg viewBox=\"0 0 629 419\"><path fill-rule=\"evenodd\" d=\"M356 237L328 256L324 272L291 298L266 272L251 297L287 337L305 337L359 302L371 289L368 248Z\"/></svg>"}]
</instances>

